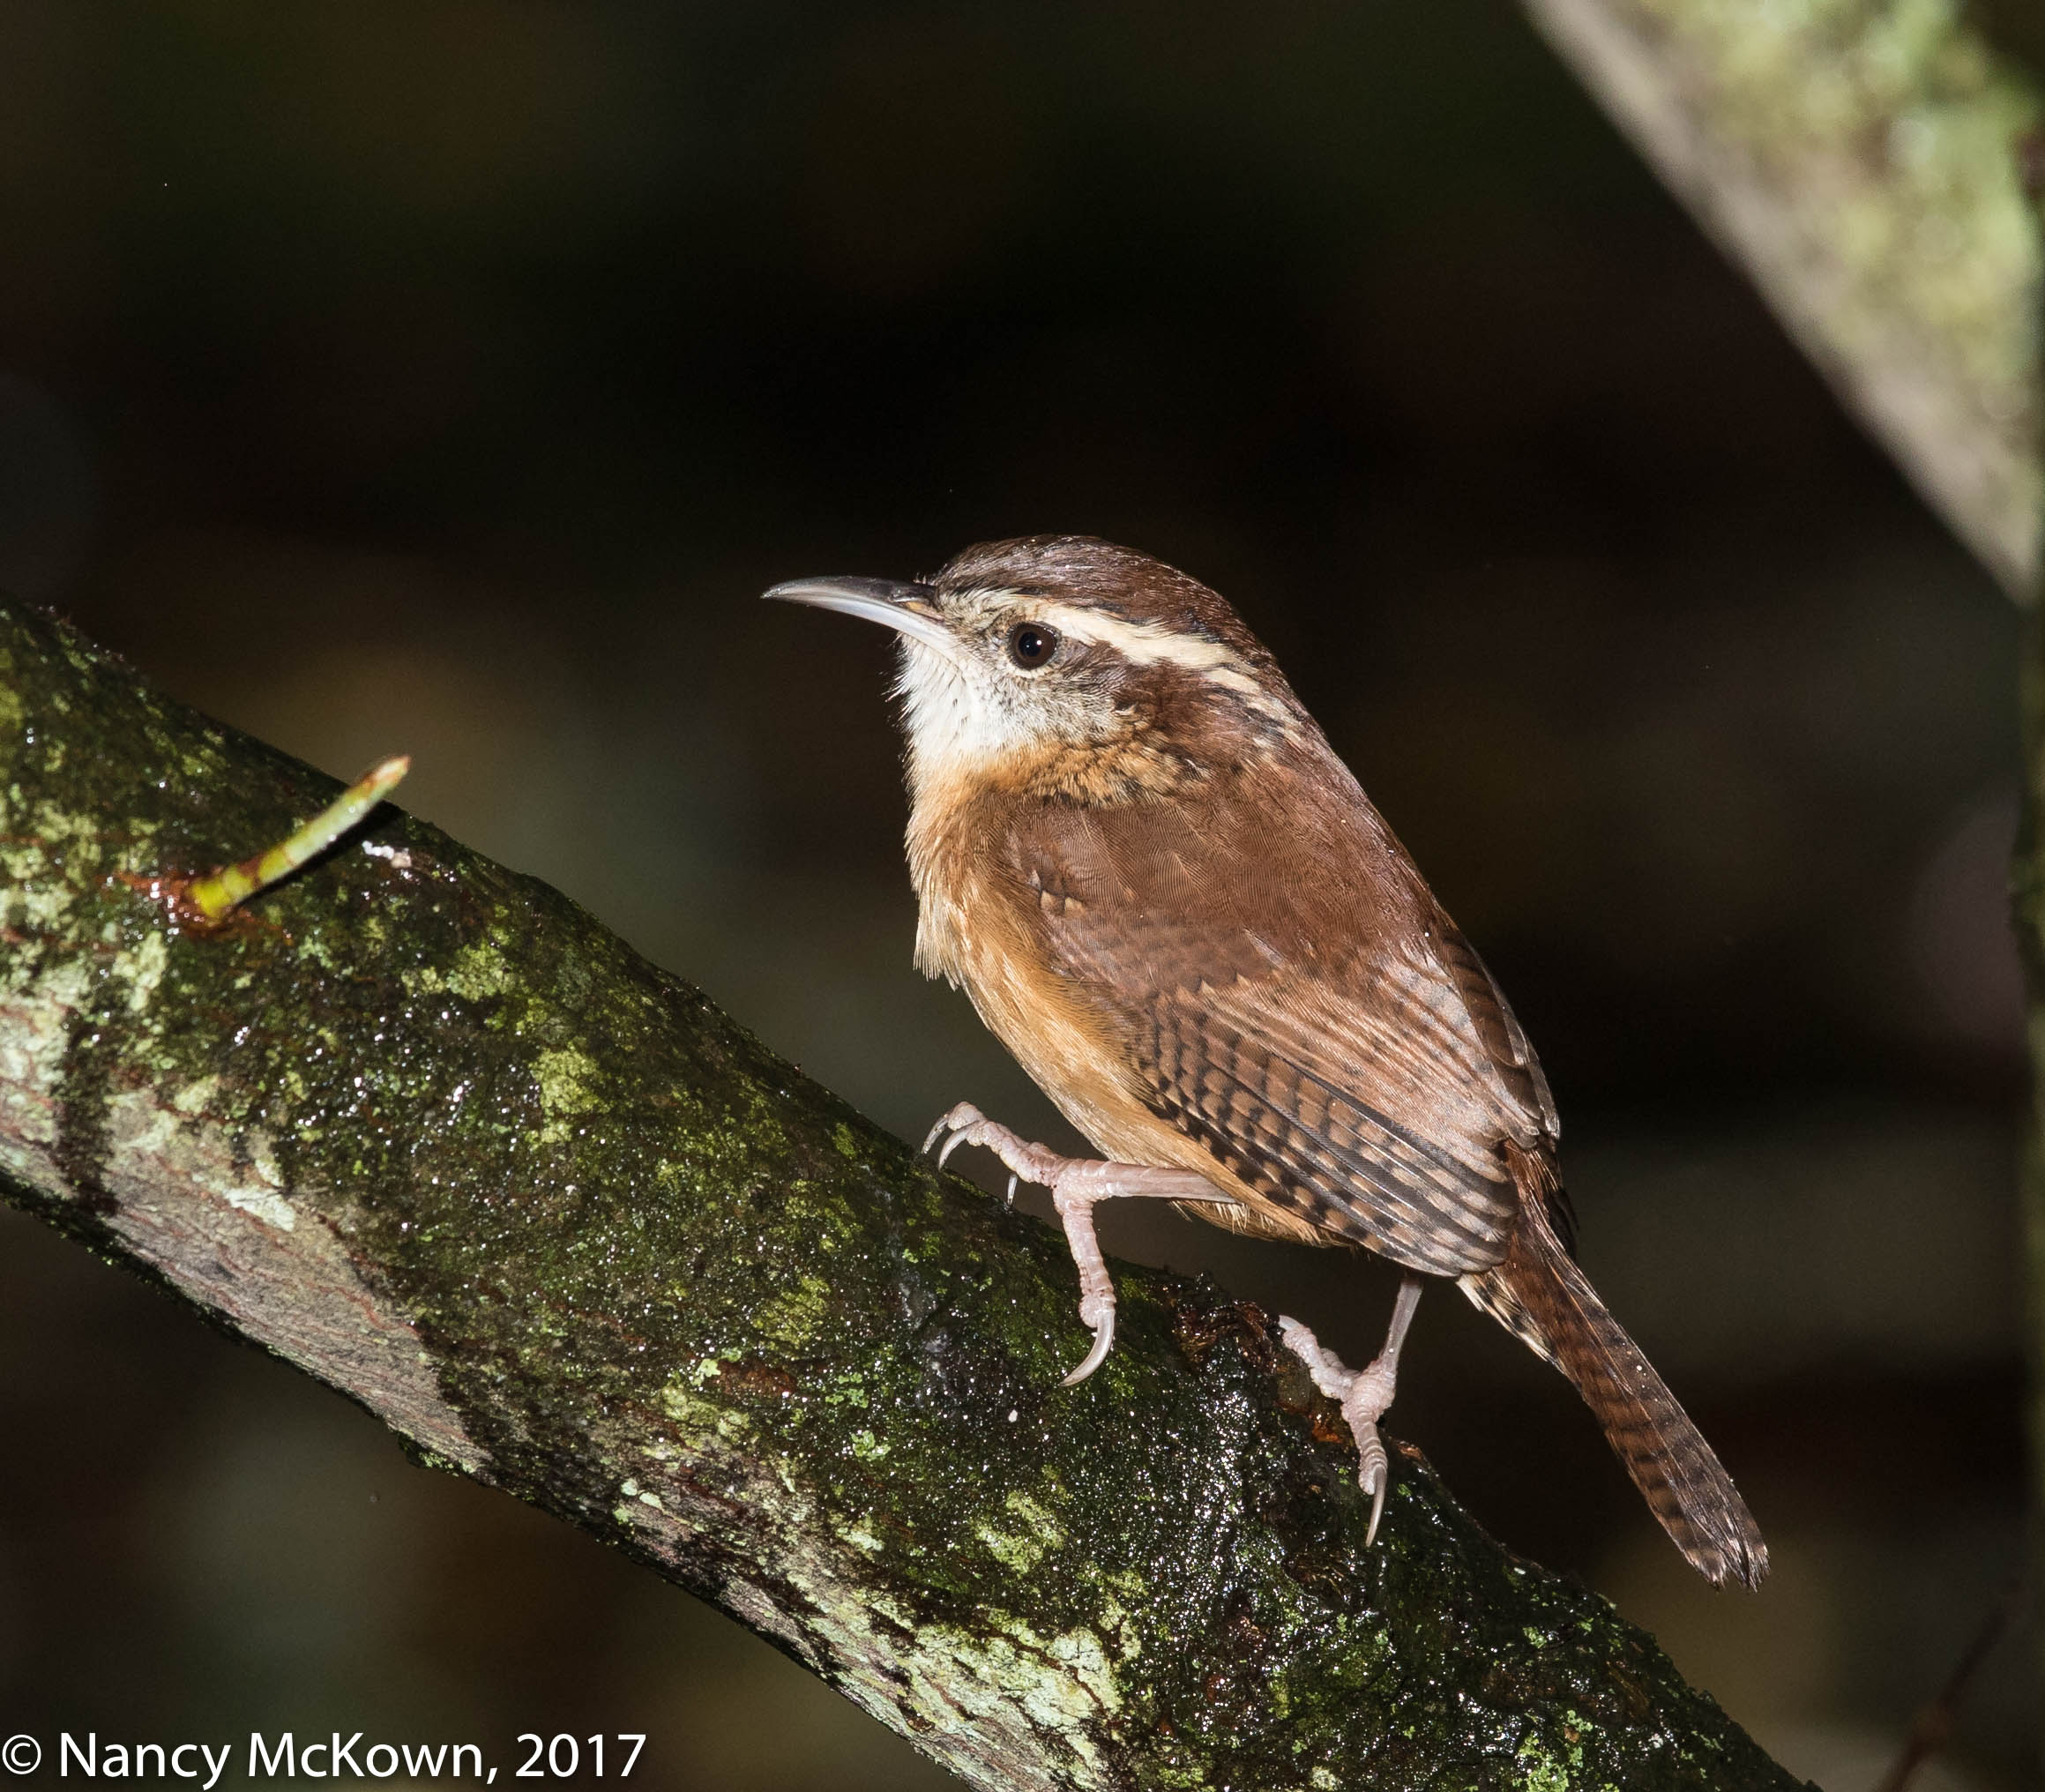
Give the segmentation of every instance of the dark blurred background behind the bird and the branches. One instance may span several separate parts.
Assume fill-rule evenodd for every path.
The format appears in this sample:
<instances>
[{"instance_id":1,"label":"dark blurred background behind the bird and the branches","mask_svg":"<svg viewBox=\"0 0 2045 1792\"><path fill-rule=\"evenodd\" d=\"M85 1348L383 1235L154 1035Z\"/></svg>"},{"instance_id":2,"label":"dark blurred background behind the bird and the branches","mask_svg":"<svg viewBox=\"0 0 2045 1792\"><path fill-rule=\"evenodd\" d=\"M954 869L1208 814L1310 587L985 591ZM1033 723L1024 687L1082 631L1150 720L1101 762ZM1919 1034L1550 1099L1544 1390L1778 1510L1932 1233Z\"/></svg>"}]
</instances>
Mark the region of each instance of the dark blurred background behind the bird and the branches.
<instances>
[{"instance_id":1,"label":"dark blurred background behind the bird and the branches","mask_svg":"<svg viewBox=\"0 0 2045 1792\"><path fill-rule=\"evenodd\" d=\"M885 642L755 593L1039 530L1290 669L1775 1573L1703 1587L1446 1289L1395 1430L1871 1784L2018 1559L2018 626L1505 0L0 0L0 585L333 773L411 751L904 1133L1070 1141L910 970ZM1104 1229L1382 1328L1354 1258ZM939 1778L16 1215L0 1436L0 1731ZM2025 1778L2029 1686L2006 1641L1943 1784Z\"/></svg>"}]
</instances>

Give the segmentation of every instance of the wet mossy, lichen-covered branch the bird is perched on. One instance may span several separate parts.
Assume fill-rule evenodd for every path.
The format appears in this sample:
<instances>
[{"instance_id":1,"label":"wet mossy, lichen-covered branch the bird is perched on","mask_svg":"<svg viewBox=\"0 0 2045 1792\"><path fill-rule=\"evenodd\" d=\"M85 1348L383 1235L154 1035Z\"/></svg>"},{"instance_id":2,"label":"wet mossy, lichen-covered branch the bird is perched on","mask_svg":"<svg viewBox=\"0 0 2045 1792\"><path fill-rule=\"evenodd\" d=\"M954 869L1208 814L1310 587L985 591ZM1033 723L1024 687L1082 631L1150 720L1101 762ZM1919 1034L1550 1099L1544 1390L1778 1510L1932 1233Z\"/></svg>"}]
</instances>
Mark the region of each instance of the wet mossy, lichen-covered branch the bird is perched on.
<instances>
[{"instance_id":1,"label":"wet mossy, lichen-covered branch the bird is perched on","mask_svg":"<svg viewBox=\"0 0 2045 1792\"><path fill-rule=\"evenodd\" d=\"M554 890L0 608L0 1191L986 1788L1785 1788L1268 1313L937 1174ZM80 1424L90 1424L80 1416Z\"/></svg>"}]
</instances>

